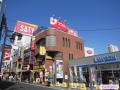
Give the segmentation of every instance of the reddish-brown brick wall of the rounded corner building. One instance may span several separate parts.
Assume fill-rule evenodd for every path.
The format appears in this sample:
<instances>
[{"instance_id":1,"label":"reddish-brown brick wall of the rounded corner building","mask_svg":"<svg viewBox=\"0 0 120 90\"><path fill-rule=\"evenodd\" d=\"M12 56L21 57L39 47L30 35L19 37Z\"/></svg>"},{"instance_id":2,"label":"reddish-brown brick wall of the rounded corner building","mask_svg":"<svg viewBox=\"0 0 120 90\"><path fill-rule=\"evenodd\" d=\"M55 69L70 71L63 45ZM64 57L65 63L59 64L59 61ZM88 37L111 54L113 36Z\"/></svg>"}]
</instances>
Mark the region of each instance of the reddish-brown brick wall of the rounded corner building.
<instances>
[{"instance_id":1,"label":"reddish-brown brick wall of the rounded corner building","mask_svg":"<svg viewBox=\"0 0 120 90\"><path fill-rule=\"evenodd\" d=\"M40 33L39 35L37 35L36 39L35 39L35 42L37 43L41 38L46 39L46 37L50 36L50 35L56 36L56 38L55 38L56 42L54 42L56 46L46 45L46 51L63 52L63 57L62 58L54 57L54 60L57 60L57 59L58 60L61 60L61 59L64 60L64 71L65 71L64 73L68 74L68 64L69 64L69 59L70 59L69 54L73 54L74 59L84 57L84 41L83 41L82 38L72 36L68 33L61 32L61 31L58 31L58 30L55 30L55 29L49 29L49 30L46 30L46 31ZM63 38L65 39L64 45L63 45ZM66 39L70 40L70 47L66 46ZM81 49L76 48L76 42L81 43ZM39 53L39 49L36 49L35 50L35 55L37 55L38 53ZM46 63L46 64L48 64L48 63Z\"/></svg>"}]
</instances>

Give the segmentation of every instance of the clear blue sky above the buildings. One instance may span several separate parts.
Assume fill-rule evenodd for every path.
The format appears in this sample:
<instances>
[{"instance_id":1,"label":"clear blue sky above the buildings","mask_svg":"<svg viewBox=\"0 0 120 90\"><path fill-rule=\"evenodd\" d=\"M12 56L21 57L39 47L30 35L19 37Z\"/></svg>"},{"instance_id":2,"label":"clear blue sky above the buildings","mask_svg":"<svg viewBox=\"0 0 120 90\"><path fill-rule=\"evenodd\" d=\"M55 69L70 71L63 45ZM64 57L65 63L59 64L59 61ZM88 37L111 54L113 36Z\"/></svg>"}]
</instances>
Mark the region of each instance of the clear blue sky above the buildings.
<instances>
[{"instance_id":1,"label":"clear blue sky above the buildings","mask_svg":"<svg viewBox=\"0 0 120 90\"><path fill-rule=\"evenodd\" d=\"M18 20L50 27L54 14L78 30L96 54L108 52L108 44L120 48L120 0L6 0L6 5L11 30Z\"/></svg>"}]
</instances>

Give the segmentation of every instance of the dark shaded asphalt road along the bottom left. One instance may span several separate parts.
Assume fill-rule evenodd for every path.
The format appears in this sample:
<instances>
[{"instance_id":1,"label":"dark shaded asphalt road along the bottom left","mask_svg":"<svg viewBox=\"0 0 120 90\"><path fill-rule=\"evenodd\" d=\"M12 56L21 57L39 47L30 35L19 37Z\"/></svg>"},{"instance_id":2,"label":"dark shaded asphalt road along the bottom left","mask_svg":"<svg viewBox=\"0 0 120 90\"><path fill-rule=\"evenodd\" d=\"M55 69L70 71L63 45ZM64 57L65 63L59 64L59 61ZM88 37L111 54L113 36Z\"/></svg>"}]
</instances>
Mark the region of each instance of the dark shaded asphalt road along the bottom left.
<instances>
[{"instance_id":1,"label":"dark shaded asphalt road along the bottom left","mask_svg":"<svg viewBox=\"0 0 120 90\"><path fill-rule=\"evenodd\" d=\"M15 83L9 81L0 81L0 90L59 90L46 86L37 86L25 83Z\"/></svg>"}]
</instances>

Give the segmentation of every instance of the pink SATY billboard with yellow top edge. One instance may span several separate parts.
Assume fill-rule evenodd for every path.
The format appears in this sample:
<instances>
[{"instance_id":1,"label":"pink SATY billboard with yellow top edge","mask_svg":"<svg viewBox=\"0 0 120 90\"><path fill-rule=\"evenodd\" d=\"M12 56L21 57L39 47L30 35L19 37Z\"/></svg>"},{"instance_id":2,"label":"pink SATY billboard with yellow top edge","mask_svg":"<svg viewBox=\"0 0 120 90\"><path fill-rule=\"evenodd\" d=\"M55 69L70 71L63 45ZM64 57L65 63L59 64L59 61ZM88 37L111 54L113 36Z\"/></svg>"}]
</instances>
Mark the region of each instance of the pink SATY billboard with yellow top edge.
<instances>
[{"instance_id":1,"label":"pink SATY billboard with yellow top edge","mask_svg":"<svg viewBox=\"0 0 120 90\"><path fill-rule=\"evenodd\" d=\"M15 32L32 36L38 29L37 25L18 21L15 26Z\"/></svg>"}]
</instances>

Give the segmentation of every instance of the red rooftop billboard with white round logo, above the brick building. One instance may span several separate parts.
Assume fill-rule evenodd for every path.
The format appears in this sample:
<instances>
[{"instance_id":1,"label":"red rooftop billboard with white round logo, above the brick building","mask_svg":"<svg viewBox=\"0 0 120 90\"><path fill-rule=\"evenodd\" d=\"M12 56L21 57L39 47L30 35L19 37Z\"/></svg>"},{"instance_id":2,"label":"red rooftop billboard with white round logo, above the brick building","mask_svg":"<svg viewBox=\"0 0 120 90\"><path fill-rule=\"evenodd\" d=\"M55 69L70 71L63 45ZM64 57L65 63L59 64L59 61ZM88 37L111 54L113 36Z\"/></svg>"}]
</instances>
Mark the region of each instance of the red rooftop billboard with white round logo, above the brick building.
<instances>
[{"instance_id":1,"label":"red rooftop billboard with white round logo, above the brick building","mask_svg":"<svg viewBox=\"0 0 120 90\"><path fill-rule=\"evenodd\" d=\"M60 29L64 32L68 32L67 24L61 22L60 20L54 19L53 17L50 18L50 26Z\"/></svg>"}]
</instances>

